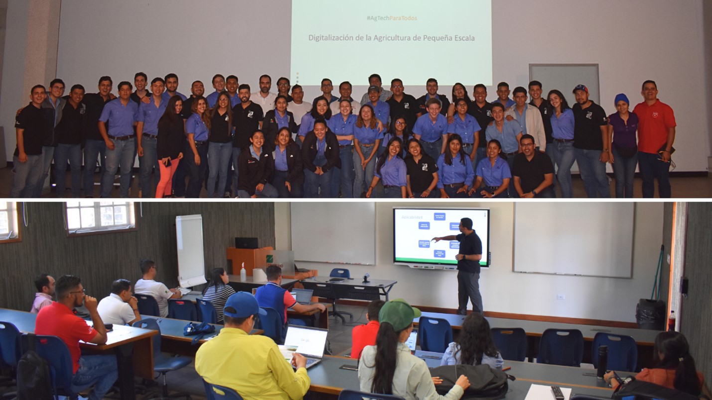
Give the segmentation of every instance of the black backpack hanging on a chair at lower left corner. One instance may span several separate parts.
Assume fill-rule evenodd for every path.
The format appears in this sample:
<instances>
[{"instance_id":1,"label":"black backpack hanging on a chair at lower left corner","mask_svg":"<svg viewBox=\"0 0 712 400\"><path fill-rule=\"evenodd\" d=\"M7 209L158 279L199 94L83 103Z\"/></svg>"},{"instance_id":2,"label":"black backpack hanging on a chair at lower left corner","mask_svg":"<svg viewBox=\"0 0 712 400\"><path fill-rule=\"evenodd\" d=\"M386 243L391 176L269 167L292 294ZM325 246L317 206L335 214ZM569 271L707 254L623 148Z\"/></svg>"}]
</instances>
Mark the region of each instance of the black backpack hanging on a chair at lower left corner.
<instances>
[{"instance_id":1,"label":"black backpack hanging on a chair at lower left corner","mask_svg":"<svg viewBox=\"0 0 712 400\"><path fill-rule=\"evenodd\" d=\"M29 350L17 362L17 399L54 399L50 364L34 350L35 335L28 333L26 339Z\"/></svg>"}]
</instances>

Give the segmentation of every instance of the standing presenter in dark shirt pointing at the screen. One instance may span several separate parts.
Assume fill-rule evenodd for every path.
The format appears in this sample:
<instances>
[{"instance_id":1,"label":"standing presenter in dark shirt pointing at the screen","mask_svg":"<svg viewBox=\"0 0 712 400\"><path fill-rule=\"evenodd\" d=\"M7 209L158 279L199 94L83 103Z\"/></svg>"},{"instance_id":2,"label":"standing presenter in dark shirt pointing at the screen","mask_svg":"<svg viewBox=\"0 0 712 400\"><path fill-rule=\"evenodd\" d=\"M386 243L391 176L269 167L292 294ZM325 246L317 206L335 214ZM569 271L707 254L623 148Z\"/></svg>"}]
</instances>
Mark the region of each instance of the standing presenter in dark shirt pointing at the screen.
<instances>
[{"instance_id":1,"label":"standing presenter in dark shirt pointing at the screen","mask_svg":"<svg viewBox=\"0 0 712 400\"><path fill-rule=\"evenodd\" d=\"M472 220L460 220L460 234L444 237L434 237L436 243L441 240L457 240L460 242L457 259L457 313L466 315L467 300L472 301L473 312L483 313L482 296L480 294L480 259L482 259L482 241L472 229Z\"/></svg>"}]
</instances>

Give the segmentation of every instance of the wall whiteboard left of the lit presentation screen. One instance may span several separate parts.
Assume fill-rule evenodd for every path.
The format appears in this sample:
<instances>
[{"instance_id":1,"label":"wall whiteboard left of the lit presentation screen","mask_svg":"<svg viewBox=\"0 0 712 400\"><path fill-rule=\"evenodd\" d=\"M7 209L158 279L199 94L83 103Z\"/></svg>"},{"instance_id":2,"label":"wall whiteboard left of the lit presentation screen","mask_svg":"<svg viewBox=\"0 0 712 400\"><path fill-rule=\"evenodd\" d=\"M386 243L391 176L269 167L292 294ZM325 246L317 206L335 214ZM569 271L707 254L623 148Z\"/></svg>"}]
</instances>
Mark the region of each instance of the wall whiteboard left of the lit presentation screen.
<instances>
[{"instance_id":1,"label":"wall whiteboard left of the lit presentation screen","mask_svg":"<svg viewBox=\"0 0 712 400\"><path fill-rule=\"evenodd\" d=\"M293 202L295 261L376 264L374 202Z\"/></svg>"}]
</instances>

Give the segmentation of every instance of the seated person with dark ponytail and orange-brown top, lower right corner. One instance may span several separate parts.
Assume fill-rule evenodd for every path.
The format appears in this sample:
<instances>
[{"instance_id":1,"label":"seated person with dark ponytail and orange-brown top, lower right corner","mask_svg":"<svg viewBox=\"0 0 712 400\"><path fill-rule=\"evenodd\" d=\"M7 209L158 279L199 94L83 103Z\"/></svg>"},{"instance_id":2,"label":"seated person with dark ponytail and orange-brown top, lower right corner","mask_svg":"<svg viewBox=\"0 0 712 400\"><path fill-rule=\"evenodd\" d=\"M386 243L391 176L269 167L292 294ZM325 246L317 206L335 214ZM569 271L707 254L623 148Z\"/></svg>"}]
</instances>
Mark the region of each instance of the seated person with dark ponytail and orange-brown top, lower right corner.
<instances>
[{"instance_id":1,"label":"seated person with dark ponytail and orange-brown top, lower right corner","mask_svg":"<svg viewBox=\"0 0 712 400\"><path fill-rule=\"evenodd\" d=\"M690 345L683 334L674 331L659 333L655 337L653 360L656 362L655 368L643 368L635 379L684 391L693 396L704 394L712 398L702 374L695 368L695 360L690 355ZM603 376L615 390L619 383L612 378L612 371Z\"/></svg>"}]
</instances>

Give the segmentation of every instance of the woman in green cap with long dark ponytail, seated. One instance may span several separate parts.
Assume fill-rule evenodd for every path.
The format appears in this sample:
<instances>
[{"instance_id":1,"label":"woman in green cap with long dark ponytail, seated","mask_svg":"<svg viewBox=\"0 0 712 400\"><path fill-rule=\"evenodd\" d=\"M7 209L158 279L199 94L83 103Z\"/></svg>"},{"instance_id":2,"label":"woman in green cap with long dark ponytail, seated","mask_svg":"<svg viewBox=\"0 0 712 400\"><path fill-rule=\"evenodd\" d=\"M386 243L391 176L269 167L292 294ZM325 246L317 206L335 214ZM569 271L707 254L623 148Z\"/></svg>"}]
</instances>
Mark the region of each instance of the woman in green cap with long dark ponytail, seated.
<instances>
[{"instance_id":1,"label":"woman in green cap with long dark ponytail, seated","mask_svg":"<svg viewBox=\"0 0 712 400\"><path fill-rule=\"evenodd\" d=\"M410 354L405 345L413 330L413 319L420 310L402 298L384 304L378 313L380 328L375 346L366 346L358 367L360 390L377 394L394 394L405 399L460 399L470 381L460 375L455 386L444 396L435 390L428 366Z\"/></svg>"}]
</instances>

